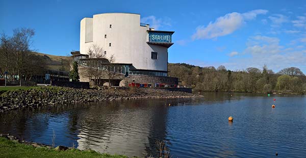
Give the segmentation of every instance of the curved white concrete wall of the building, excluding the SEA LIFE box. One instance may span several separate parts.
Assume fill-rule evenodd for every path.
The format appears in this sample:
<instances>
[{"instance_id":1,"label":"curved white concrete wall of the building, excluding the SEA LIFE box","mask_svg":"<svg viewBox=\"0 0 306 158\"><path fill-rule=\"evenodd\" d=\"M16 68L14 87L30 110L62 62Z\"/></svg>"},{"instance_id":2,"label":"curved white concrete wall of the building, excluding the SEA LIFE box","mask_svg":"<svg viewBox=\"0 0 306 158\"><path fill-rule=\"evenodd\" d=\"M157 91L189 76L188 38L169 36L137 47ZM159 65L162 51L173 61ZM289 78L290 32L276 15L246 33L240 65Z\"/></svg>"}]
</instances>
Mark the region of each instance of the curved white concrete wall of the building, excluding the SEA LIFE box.
<instances>
[{"instance_id":1,"label":"curved white concrete wall of the building, excluding the SEA LIFE box","mask_svg":"<svg viewBox=\"0 0 306 158\"><path fill-rule=\"evenodd\" d=\"M90 22L92 20L92 22ZM86 38L92 23L92 42ZM112 28L110 28L110 24ZM130 13L105 13L81 20L80 52L87 54L92 44L107 51L106 57L114 55L116 63L132 63L137 69L167 71L168 49L147 44L149 25L140 26L140 15ZM107 35L107 38L105 38ZM111 43L111 46L109 46ZM158 59L151 59L151 51L158 52Z\"/></svg>"}]
</instances>

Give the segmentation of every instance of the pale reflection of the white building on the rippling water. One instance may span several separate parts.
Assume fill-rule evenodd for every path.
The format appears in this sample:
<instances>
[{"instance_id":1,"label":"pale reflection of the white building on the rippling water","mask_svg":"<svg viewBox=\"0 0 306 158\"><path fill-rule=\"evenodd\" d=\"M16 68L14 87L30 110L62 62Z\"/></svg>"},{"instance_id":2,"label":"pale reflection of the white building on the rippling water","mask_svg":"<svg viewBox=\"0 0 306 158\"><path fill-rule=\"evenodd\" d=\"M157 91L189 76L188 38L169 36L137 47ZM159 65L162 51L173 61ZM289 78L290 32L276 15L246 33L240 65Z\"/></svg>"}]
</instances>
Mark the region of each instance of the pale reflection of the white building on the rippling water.
<instances>
[{"instance_id":1,"label":"pale reflection of the white building on the rippling water","mask_svg":"<svg viewBox=\"0 0 306 158\"><path fill-rule=\"evenodd\" d=\"M165 100L93 104L78 114L78 149L129 156L156 154L156 141L166 135Z\"/></svg>"}]
</instances>

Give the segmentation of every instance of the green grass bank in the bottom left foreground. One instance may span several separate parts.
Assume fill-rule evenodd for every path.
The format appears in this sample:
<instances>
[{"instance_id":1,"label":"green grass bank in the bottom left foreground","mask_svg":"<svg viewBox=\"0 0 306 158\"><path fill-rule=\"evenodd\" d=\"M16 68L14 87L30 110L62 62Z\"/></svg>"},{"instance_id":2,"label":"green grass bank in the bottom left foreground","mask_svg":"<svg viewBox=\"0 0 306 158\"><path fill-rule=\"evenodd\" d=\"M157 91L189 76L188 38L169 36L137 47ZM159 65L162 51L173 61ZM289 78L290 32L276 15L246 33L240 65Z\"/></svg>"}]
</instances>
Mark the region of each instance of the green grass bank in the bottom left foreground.
<instances>
[{"instance_id":1,"label":"green grass bank in the bottom left foreground","mask_svg":"<svg viewBox=\"0 0 306 158\"><path fill-rule=\"evenodd\" d=\"M0 157L111 157L127 158L124 155L100 154L93 150L81 151L78 149L69 149L66 151L56 151L45 147L33 147L16 143L11 140L0 137Z\"/></svg>"}]
</instances>

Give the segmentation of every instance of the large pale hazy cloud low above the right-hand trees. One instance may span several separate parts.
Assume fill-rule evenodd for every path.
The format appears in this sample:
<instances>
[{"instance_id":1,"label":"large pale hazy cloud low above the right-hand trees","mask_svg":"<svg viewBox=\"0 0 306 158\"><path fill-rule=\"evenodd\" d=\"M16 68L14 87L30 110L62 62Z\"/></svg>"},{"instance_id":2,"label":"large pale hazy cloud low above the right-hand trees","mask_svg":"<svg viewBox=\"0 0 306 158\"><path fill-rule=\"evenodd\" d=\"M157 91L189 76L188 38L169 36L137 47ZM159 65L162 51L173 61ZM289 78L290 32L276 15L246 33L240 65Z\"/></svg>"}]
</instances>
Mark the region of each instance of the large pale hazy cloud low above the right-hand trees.
<instances>
[{"instance_id":1,"label":"large pale hazy cloud low above the right-hand trees","mask_svg":"<svg viewBox=\"0 0 306 158\"><path fill-rule=\"evenodd\" d=\"M267 64L269 69L279 71L286 67L298 67L306 70L306 49L301 46L285 47L279 44L279 39L267 36L249 37L247 47L239 58L230 58L222 65L233 69L247 67L261 68ZM242 67L243 66L243 67Z\"/></svg>"}]
</instances>

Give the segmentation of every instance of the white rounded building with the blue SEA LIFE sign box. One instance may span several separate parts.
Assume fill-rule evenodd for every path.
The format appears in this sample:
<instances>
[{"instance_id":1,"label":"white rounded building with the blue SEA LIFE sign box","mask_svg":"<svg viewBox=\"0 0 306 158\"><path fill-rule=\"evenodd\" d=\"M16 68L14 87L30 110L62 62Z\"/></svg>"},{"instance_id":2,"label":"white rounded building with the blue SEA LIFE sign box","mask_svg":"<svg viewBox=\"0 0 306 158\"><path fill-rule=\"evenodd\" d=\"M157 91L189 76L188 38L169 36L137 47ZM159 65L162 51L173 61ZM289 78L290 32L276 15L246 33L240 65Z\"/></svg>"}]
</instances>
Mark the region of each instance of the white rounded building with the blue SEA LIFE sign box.
<instances>
[{"instance_id":1,"label":"white rounded building with the blue SEA LIFE sign box","mask_svg":"<svg viewBox=\"0 0 306 158\"><path fill-rule=\"evenodd\" d=\"M80 53L96 44L115 63L132 64L129 74L167 76L172 31L155 31L140 14L104 13L81 20Z\"/></svg>"}]
</instances>

